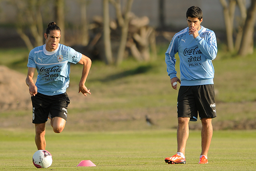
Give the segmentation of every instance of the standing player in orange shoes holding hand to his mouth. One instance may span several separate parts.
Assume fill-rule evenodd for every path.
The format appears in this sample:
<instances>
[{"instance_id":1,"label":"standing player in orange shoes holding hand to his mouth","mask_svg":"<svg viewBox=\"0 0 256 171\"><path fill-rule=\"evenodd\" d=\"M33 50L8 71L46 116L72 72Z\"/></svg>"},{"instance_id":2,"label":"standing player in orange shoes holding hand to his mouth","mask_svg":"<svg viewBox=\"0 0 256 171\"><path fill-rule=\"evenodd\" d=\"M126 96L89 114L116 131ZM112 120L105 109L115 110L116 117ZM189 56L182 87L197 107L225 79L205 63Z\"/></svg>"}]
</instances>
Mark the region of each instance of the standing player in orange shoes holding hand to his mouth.
<instances>
[{"instance_id":1,"label":"standing player in orange shoes holding hand to his mouth","mask_svg":"<svg viewBox=\"0 0 256 171\"><path fill-rule=\"evenodd\" d=\"M216 117L212 65L217 54L216 36L213 31L200 25L203 13L198 6L188 8L186 16L188 27L175 34L165 53L172 88L177 90L177 82L181 84L177 99L177 154L165 159L168 164L186 163L189 120L197 121L198 115L202 122L202 152L199 163L208 163L212 118ZM175 71L176 53L179 53L181 79Z\"/></svg>"}]
</instances>

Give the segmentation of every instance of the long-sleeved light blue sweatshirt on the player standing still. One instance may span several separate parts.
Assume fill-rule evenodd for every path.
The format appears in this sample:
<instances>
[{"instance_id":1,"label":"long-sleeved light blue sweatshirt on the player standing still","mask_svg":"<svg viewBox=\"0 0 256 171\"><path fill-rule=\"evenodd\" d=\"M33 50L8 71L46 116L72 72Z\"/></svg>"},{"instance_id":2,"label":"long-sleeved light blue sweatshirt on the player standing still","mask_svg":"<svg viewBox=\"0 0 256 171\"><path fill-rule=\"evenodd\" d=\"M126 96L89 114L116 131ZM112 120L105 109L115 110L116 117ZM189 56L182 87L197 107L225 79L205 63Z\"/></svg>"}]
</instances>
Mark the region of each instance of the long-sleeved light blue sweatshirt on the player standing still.
<instances>
[{"instance_id":1,"label":"long-sleeved light blue sweatshirt on the player standing still","mask_svg":"<svg viewBox=\"0 0 256 171\"><path fill-rule=\"evenodd\" d=\"M177 77L175 54L179 54L181 85L213 84L212 60L217 55L216 36L203 26L198 33L196 39L189 35L188 27L176 33L165 53L167 73L171 79Z\"/></svg>"}]
</instances>

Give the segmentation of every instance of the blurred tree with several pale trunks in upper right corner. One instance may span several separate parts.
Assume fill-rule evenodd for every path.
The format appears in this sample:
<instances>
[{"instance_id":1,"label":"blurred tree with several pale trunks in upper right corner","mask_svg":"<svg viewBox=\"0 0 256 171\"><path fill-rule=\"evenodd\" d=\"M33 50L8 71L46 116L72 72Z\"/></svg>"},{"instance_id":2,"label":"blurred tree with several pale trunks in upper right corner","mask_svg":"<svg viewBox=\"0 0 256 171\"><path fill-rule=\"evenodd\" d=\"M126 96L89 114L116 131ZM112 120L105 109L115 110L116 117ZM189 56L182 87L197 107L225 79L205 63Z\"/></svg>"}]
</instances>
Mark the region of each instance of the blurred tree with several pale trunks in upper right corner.
<instances>
[{"instance_id":1,"label":"blurred tree with several pale trunks in upper right corner","mask_svg":"<svg viewBox=\"0 0 256 171\"><path fill-rule=\"evenodd\" d=\"M226 26L227 47L230 52L248 55L253 52L253 35L256 21L256 0L246 9L246 0L220 0ZM235 18L235 8L239 7L241 16ZM237 21L235 31L234 19ZM234 33L235 32L235 33ZM233 37L235 35L235 45ZM238 50L238 51L237 51Z\"/></svg>"}]
</instances>

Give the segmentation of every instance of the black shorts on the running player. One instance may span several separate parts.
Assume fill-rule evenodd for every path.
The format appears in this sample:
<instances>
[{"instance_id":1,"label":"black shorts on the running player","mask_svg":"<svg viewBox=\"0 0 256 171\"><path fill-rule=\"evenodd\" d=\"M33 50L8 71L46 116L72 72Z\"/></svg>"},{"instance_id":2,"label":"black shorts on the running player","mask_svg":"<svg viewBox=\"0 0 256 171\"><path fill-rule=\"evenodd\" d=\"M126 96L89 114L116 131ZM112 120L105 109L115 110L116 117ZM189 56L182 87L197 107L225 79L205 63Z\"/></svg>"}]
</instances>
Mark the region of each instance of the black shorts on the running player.
<instances>
[{"instance_id":1,"label":"black shorts on the running player","mask_svg":"<svg viewBox=\"0 0 256 171\"><path fill-rule=\"evenodd\" d=\"M42 124L48 120L48 115L52 118L58 116L67 121L67 107L70 103L67 93L54 96L47 96L37 93L31 97L33 106L33 124Z\"/></svg>"}]
</instances>

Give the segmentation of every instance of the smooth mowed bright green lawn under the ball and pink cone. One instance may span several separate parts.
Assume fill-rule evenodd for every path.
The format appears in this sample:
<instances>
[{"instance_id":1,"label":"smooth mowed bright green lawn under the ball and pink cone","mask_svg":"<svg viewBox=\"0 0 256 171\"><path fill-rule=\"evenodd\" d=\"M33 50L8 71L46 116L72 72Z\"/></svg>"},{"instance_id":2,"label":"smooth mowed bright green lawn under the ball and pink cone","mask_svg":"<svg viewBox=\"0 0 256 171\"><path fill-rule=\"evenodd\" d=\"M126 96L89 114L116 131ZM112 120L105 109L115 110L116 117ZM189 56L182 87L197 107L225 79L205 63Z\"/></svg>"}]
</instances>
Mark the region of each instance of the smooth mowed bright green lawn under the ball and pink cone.
<instances>
[{"instance_id":1,"label":"smooth mowed bright green lawn under the ball and pink cone","mask_svg":"<svg viewBox=\"0 0 256 171\"><path fill-rule=\"evenodd\" d=\"M0 130L0 170L35 170L33 130ZM199 165L200 131L190 131L187 164L168 165L165 157L176 153L176 130L69 132L47 130L52 166L44 170L71 171L255 171L256 130L215 131L209 164ZM90 160L96 167L77 167Z\"/></svg>"}]
</instances>

